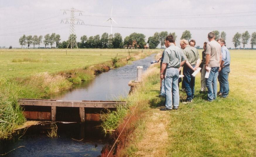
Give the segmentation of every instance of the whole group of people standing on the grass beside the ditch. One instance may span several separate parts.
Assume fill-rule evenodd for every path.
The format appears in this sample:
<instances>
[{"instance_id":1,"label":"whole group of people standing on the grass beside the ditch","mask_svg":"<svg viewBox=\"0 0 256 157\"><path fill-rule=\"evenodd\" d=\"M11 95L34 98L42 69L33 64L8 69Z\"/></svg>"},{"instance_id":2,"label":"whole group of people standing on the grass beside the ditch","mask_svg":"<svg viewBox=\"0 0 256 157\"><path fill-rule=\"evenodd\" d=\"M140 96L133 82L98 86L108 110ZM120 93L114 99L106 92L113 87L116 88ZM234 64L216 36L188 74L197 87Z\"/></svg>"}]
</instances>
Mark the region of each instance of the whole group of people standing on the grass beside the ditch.
<instances>
[{"instance_id":1,"label":"whole group of people standing on the grass beside the ditch","mask_svg":"<svg viewBox=\"0 0 256 157\"><path fill-rule=\"evenodd\" d=\"M166 49L163 51L160 66L161 87L160 95L165 97L165 108L160 110L177 110L180 103L179 83L181 82L180 71L183 67L182 86L187 94L186 101L191 103L195 92L195 77L192 73L199 67L201 68L201 93L208 89L207 100L214 101L217 97L217 79L220 84L219 96L226 98L229 93L228 74L230 72L230 52L226 48L223 39L215 40L215 34L208 34L209 42L204 42L202 61L197 49L194 47L196 42L185 39L180 40L180 47L176 46L172 35L165 39ZM200 63L201 62L201 63ZM198 69L199 70L199 69ZM209 77L205 78L206 72Z\"/></svg>"}]
</instances>

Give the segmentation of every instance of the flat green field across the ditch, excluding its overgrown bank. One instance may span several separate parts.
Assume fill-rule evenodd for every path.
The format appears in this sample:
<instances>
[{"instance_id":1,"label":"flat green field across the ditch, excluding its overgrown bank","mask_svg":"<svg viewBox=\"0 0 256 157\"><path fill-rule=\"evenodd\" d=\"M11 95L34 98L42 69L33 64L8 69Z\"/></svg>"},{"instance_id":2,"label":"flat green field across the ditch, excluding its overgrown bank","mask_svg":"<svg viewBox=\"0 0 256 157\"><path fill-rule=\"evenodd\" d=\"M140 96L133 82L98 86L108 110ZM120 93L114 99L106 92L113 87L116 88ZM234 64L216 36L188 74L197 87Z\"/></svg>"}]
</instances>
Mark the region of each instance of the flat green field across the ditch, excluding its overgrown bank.
<instances>
[{"instance_id":1,"label":"flat green field across the ditch, excluding its overgrown bank","mask_svg":"<svg viewBox=\"0 0 256 157\"><path fill-rule=\"evenodd\" d=\"M137 49L129 51L131 55L138 52ZM67 50L67 54L66 49L0 49L0 77L26 77L45 71L55 73L103 63L115 56L128 56L128 49L73 49Z\"/></svg>"}]
</instances>

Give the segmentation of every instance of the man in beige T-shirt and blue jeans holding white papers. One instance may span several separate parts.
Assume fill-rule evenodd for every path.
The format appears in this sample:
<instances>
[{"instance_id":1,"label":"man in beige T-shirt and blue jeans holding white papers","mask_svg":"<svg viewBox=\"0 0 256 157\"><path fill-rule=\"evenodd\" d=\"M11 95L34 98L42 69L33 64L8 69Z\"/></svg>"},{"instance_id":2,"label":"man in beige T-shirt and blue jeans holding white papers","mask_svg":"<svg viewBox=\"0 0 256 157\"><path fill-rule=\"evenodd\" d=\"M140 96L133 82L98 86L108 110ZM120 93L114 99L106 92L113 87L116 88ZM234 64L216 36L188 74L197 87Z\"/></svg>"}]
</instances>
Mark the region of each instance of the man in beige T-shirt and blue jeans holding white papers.
<instances>
[{"instance_id":1,"label":"man in beige T-shirt and blue jeans holding white papers","mask_svg":"<svg viewBox=\"0 0 256 157\"><path fill-rule=\"evenodd\" d=\"M208 101L213 101L217 96L217 78L218 71L221 64L221 45L215 41L215 34L208 33L208 40L210 42L206 45L206 60L205 69L210 72L208 79L206 79L206 87L208 88ZM209 70L209 68L211 68Z\"/></svg>"}]
</instances>

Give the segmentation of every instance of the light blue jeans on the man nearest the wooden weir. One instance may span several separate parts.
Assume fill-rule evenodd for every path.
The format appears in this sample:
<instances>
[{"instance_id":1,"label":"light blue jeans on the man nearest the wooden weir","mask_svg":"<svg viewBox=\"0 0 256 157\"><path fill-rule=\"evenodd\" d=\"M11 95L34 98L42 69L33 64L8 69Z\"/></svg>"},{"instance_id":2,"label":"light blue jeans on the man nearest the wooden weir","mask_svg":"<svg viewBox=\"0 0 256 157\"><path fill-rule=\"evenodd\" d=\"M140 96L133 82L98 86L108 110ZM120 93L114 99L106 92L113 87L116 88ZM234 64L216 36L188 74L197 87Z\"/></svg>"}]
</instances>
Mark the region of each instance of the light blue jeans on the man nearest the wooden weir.
<instances>
[{"instance_id":1,"label":"light blue jeans on the man nearest the wooden weir","mask_svg":"<svg viewBox=\"0 0 256 157\"><path fill-rule=\"evenodd\" d=\"M179 107L180 94L178 87L179 70L178 68L168 68L166 70L166 77L164 80L165 90L165 106L169 109L176 109ZM173 106L173 107L172 107Z\"/></svg>"}]
</instances>

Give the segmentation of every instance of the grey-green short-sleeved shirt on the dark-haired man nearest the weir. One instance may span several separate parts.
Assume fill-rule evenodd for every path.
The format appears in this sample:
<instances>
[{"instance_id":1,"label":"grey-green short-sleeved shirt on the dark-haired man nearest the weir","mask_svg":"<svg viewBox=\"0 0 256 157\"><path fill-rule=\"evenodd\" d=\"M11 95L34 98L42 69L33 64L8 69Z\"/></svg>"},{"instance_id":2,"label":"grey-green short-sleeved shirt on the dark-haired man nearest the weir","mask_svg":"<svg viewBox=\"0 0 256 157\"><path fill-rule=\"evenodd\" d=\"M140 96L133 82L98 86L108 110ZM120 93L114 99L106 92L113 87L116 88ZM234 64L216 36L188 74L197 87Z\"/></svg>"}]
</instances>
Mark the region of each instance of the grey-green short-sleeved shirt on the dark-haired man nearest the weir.
<instances>
[{"instance_id":1,"label":"grey-green short-sleeved shirt on the dark-haired man nearest the weir","mask_svg":"<svg viewBox=\"0 0 256 157\"><path fill-rule=\"evenodd\" d=\"M185 61L187 58L183 54L180 47L175 46L173 43L164 50L163 63L167 63L169 67L180 67L180 62Z\"/></svg>"}]
</instances>

